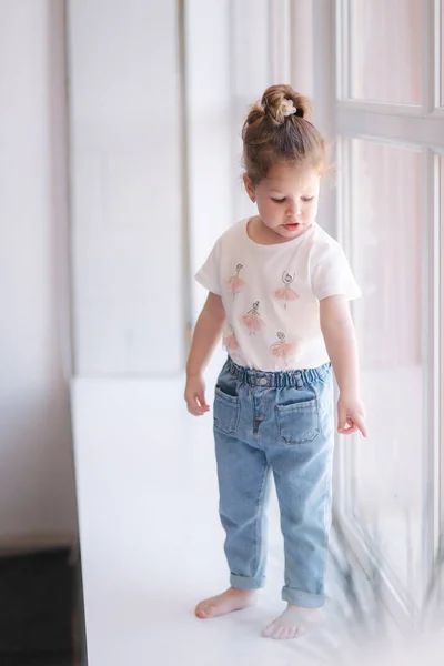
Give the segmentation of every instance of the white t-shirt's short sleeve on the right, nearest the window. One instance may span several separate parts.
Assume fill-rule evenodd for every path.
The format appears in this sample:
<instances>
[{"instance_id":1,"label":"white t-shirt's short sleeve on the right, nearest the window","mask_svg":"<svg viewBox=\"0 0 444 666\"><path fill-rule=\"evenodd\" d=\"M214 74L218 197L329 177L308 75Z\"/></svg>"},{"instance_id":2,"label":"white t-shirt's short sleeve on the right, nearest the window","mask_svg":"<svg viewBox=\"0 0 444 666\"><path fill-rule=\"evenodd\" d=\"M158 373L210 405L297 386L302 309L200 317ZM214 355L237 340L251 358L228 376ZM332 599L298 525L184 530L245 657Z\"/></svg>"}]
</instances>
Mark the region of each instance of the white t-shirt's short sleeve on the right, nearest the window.
<instances>
[{"instance_id":1,"label":"white t-shirt's short sleeve on the right, nearest the window","mask_svg":"<svg viewBox=\"0 0 444 666\"><path fill-rule=\"evenodd\" d=\"M319 301L329 296L346 296L350 301L362 295L341 245L325 243L313 253L311 262L312 290Z\"/></svg>"}]
</instances>

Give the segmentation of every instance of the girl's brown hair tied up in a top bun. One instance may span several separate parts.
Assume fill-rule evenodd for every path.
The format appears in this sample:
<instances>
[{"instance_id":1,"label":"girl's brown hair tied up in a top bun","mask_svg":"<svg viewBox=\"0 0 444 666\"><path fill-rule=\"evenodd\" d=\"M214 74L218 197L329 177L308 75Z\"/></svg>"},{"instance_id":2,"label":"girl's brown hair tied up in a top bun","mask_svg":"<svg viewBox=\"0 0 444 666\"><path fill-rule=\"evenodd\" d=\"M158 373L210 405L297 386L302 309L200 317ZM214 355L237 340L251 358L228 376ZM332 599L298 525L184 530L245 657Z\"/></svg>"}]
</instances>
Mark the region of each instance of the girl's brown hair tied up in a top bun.
<instances>
[{"instance_id":1,"label":"girl's brown hair tied up in a top bun","mask_svg":"<svg viewBox=\"0 0 444 666\"><path fill-rule=\"evenodd\" d=\"M285 115L291 102L295 113ZM323 172L325 141L309 121L309 98L291 85L271 85L250 110L242 128L246 174L256 185L276 163L296 163Z\"/></svg>"}]
</instances>

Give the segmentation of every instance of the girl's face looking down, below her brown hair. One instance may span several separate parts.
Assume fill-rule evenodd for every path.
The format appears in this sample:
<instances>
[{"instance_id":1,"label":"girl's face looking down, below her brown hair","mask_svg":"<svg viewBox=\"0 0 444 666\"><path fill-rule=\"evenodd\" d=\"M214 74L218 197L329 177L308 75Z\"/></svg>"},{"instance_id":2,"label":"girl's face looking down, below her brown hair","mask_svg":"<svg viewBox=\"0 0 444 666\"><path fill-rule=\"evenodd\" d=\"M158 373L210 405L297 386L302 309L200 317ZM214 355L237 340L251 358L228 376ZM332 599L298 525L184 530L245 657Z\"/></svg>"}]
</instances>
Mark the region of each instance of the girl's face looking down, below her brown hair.
<instances>
[{"instance_id":1,"label":"girl's face looking down, below her brown hair","mask_svg":"<svg viewBox=\"0 0 444 666\"><path fill-rule=\"evenodd\" d=\"M281 241L300 236L315 221L320 182L315 169L291 164L275 164L258 185L244 175L246 192L258 203L261 222Z\"/></svg>"}]
</instances>

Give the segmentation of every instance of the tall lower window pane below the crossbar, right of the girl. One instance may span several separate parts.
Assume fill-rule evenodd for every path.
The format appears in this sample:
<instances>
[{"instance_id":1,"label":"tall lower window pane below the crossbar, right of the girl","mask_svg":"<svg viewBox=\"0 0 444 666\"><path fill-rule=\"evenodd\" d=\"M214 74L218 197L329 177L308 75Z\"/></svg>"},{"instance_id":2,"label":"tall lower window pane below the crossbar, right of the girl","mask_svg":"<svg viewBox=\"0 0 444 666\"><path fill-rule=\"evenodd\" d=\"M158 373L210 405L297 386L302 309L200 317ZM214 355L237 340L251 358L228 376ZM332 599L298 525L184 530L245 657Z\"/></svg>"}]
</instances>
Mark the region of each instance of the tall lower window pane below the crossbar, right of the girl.
<instances>
[{"instance_id":1,"label":"tall lower window pane below the crossbar, right of the girl","mask_svg":"<svg viewBox=\"0 0 444 666\"><path fill-rule=\"evenodd\" d=\"M411 588L420 568L426 450L421 154L363 140L352 140L351 149L351 255L364 292L354 317L370 431L369 442L346 444L354 458L351 511L365 526L377 523L384 556Z\"/></svg>"}]
</instances>

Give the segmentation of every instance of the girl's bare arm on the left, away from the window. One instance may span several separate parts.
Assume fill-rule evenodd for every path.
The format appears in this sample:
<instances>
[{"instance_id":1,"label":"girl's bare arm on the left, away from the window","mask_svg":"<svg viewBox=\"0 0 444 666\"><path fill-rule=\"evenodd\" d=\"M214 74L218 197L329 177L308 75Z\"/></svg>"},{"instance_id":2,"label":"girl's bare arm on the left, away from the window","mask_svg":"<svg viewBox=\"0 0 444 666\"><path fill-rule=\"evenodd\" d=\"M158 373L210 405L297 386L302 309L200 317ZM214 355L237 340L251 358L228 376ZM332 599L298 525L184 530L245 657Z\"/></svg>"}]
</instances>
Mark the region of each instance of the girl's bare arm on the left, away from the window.
<instances>
[{"instance_id":1,"label":"girl's bare arm on the left, away from the window","mask_svg":"<svg viewBox=\"0 0 444 666\"><path fill-rule=\"evenodd\" d=\"M221 296L210 292L195 324L186 363L185 401L194 416L201 416L210 408L205 402L203 372L221 337L225 319Z\"/></svg>"}]
</instances>

